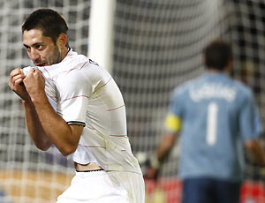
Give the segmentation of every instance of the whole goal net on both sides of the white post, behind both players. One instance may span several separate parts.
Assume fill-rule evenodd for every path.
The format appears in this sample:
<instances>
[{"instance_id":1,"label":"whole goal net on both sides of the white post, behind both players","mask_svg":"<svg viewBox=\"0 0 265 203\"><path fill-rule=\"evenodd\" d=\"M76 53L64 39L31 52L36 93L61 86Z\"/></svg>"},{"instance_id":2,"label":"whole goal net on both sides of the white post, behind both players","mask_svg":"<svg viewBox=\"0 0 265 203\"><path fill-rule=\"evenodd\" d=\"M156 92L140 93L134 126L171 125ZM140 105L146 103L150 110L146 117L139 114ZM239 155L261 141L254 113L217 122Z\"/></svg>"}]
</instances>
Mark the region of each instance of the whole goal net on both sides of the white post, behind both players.
<instances>
[{"instance_id":1,"label":"whole goal net on both sides of the white post, behind both players","mask_svg":"<svg viewBox=\"0 0 265 203\"><path fill-rule=\"evenodd\" d=\"M55 9L68 22L72 49L87 55L91 6L89 0L0 1L0 202L56 202L74 171L55 147L45 153L34 147L21 102L7 85L13 68L31 64L20 26L35 9ZM117 0L112 75L124 94L128 135L143 172L163 135L171 91L201 74L201 50L218 36L233 42L232 75L253 88L264 124L264 10L261 0ZM241 203L265 201L264 176L248 162ZM146 182L146 202L180 203L178 146L159 179Z\"/></svg>"}]
</instances>

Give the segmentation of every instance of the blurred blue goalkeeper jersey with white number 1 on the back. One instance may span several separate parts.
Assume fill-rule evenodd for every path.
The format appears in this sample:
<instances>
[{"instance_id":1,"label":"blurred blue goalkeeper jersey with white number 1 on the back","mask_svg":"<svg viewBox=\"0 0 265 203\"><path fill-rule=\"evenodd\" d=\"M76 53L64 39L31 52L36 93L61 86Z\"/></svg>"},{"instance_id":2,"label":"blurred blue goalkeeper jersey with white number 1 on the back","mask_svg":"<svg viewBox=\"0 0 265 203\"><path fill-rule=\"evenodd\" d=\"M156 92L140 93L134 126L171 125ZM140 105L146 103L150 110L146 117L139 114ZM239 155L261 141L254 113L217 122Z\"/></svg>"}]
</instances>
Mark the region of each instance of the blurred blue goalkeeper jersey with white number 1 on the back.
<instances>
[{"instance_id":1,"label":"blurred blue goalkeeper jersey with white number 1 on the back","mask_svg":"<svg viewBox=\"0 0 265 203\"><path fill-rule=\"evenodd\" d=\"M261 133L249 87L207 72L175 89L168 117L180 121L180 177L242 180L243 143ZM178 131L168 126L168 131Z\"/></svg>"}]
</instances>

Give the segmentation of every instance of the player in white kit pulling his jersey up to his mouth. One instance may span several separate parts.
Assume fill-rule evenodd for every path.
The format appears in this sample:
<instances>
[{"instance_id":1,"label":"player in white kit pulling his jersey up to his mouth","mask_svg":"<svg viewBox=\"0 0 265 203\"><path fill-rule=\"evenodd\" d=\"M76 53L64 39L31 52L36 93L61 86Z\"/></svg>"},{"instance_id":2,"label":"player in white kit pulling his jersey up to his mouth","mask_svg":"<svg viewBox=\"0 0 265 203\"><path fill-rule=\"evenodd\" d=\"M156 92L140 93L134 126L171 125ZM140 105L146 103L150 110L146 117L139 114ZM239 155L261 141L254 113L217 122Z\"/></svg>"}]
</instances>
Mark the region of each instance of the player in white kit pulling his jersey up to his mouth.
<instances>
[{"instance_id":1,"label":"player in white kit pulling his jersey up to his mouth","mask_svg":"<svg viewBox=\"0 0 265 203\"><path fill-rule=\"evenodd\" d=\"M55 145L75 164L72 184L57 203L143 203L123 96L105 69L69 47L67 30L57 11L30 14L22 34L35 66L14 69L9 81L35 146L45 151Z\"/></svg>"}]
</instances>

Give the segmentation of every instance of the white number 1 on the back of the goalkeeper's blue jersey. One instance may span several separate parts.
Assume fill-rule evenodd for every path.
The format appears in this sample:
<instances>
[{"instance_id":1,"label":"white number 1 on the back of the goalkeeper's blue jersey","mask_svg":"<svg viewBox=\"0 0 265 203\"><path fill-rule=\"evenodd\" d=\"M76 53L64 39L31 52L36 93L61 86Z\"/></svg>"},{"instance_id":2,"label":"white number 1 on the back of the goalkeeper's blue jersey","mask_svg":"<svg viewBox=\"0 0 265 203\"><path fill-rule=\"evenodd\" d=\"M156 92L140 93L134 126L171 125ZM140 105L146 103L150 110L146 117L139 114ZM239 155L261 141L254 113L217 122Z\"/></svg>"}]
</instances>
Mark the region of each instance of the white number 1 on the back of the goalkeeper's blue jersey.
<instances>
[{"instance_id":1,"label":"white number 1 on the back of the goalkeeper's blue jersey","mask_svg":"<svg viewBox=\"0 0 265 203\"><path fill-rule=\"evenodd\" d=\"M206 142L209 146L216 144L216 130L217 130L217 113L218 106L216 102L210 102L208 104L208 115L207 115L207 134Z\"/></svg>"}]
</instances>

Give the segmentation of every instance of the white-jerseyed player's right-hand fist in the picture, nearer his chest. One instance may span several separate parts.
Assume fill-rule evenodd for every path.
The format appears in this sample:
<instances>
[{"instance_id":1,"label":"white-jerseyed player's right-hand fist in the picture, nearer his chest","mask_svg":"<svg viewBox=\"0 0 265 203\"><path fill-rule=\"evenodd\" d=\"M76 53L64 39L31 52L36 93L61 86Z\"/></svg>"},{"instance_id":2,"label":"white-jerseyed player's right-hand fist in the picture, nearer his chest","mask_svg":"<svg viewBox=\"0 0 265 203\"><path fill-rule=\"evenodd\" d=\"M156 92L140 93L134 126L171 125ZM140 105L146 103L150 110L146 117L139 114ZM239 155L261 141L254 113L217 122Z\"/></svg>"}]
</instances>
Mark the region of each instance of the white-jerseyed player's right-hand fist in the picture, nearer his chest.
<instances>
[{"instance_id":1,"label":"white-jerseyed player's right-hand fist in the picture, nearer his chest","mask_svg":"<svg viewBox=\"0 0 265 203\"><path fill-rule=\"evenodd\" d=\"M31 69L27 77L23 80L31 100L34 102L37 99L45 97L45 79L42 76L42 71Z\"/></svg>"}]
</instances>

